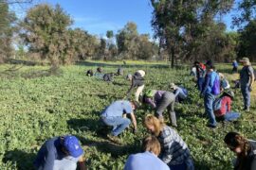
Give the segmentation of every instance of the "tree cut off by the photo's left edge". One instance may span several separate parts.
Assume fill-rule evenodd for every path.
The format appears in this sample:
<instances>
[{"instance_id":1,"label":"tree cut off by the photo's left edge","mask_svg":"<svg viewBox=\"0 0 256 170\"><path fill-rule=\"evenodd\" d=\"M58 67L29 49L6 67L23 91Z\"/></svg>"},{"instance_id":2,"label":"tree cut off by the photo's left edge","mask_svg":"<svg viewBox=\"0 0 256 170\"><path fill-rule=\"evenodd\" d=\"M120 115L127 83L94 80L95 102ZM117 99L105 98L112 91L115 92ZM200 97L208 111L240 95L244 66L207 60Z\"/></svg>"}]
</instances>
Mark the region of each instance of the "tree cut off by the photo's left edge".
<instances>
[{"instance_id":1,"label":"tree cut off by the photo's left edge","mask_svg":"<svg viewBox=\"0 0 256 170\"><path fill-rule=\"evenodd\" d=\"M11 24L16 20L15 14L9 12L9 5L0 0L0 63L5 62L12 55L11 38L14 27Z\"/></svg>"}]
</instances>

